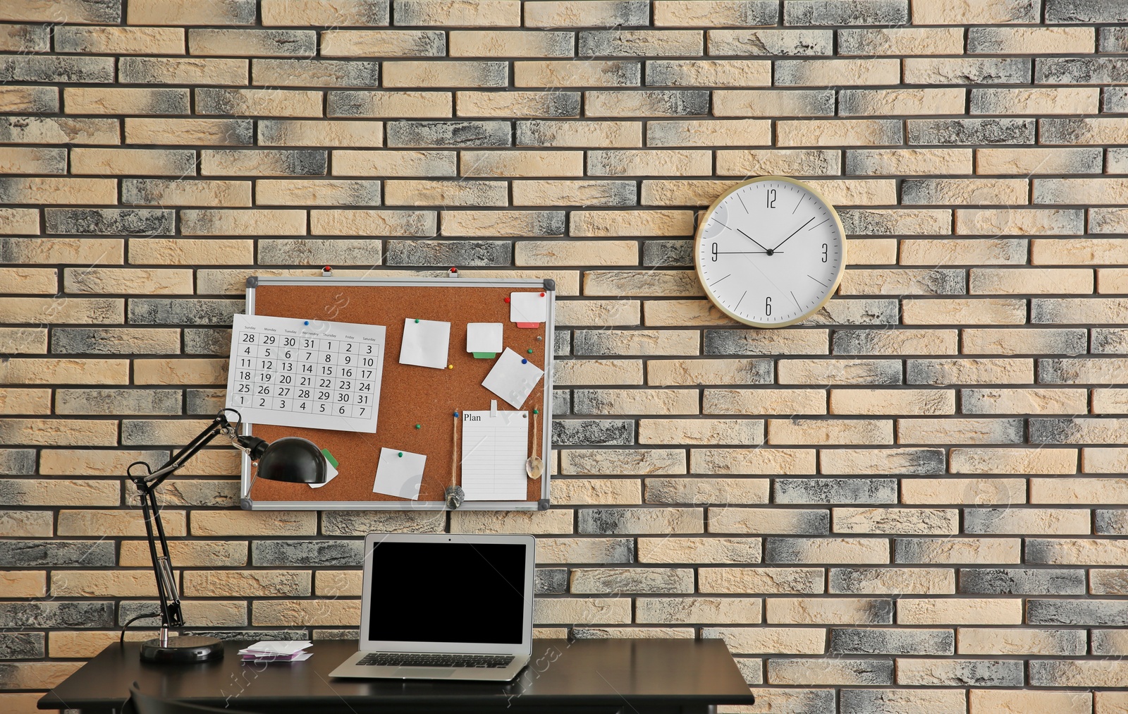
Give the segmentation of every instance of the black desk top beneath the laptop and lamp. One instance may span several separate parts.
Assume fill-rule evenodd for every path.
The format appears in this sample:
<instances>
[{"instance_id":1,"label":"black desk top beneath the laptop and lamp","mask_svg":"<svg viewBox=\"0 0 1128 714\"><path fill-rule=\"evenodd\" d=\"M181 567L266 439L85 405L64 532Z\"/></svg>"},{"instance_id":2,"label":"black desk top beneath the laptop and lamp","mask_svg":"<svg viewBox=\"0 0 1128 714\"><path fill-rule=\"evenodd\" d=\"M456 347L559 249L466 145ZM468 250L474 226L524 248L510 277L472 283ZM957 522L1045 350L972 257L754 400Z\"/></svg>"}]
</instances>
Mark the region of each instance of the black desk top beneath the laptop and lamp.
<instances>
[{"instance_id":1,"label":"black desk top beneath the laptop and lamp","mask_svg":"<svg viewBox=\"0 0 1128 714\"><path fill-rule=\"evenodd\" d=\"M142 691L250 712L350 714L707 714L752 704L720 639L534 639L532 662L511 682L329 679L355 641L314 643L305 662L241 662L250 642L228 642L222 660L143 663L138 643L112 644L39 699L39 708L109 712Z\"/></svg>"}]
</instances>

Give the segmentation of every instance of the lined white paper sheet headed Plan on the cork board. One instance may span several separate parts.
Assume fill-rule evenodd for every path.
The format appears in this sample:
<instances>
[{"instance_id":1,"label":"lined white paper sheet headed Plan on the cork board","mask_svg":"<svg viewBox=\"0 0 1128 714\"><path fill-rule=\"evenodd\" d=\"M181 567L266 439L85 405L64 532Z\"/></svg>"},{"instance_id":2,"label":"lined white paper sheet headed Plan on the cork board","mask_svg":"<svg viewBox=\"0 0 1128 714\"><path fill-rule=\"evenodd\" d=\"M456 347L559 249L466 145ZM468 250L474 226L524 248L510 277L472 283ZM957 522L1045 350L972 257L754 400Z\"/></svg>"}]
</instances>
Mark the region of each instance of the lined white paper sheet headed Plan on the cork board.
<instances>
[{"instance_id":1,"label":"lined white paper sheet headed Plan on the cork board","mask_svg":"<svg viewBox=\"0 0 1128 714\"><path fill-rule=\"evenodd\" d=\"M529 412L462 413L462 490L467 500L526 500Z\"/></svg>"}]
</instances>

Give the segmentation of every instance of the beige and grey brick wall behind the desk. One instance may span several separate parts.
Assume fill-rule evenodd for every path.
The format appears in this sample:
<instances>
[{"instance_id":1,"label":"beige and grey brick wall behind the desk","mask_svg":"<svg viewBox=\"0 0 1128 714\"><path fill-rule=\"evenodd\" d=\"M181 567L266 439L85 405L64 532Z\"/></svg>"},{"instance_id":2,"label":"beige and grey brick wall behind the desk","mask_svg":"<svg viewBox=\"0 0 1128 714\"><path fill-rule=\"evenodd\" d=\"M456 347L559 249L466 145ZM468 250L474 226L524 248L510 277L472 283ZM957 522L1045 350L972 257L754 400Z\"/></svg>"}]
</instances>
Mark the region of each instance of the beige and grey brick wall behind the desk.
<instances>
[{"instance_id":1,"label":"beige and grey brick wall behind the desk","mask_svg":"<svg viewBox=\"0 0 1128 714\"><path fill-rule=\"evenodd\" d=\"M221 403L244 278L332 263L555 278L553 508L243 512L210 451L161 493L193 629L350 636L361 534L531 532L541 634L724 638L756 712L1128 712L1126 20L2 0L0 708L151 606L122 476ZM689 259L760 174L849 234L770 331Z\"/></svg>"}]
</instances>

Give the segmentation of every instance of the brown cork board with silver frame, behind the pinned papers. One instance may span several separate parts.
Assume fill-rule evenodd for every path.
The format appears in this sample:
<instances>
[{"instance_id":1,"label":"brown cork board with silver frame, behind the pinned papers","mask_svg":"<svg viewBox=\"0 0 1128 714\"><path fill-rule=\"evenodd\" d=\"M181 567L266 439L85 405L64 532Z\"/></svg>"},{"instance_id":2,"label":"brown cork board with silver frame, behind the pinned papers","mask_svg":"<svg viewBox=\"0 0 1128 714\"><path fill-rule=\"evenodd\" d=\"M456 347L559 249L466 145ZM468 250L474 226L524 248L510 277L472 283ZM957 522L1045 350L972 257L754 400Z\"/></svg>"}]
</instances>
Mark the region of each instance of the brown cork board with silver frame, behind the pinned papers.
<instances>
[{"instance_id":1,"label":"brown cork board with silver frame, behind the pinned papers","mask_svg":"<svg viewBox=\"0 0 1128 714\"><path fill-rule=\"evenodd\" d=\"M250 278L247 313L378 324L387 328L384 377L376 434L252 425L255 436L272 442L283 436L301 436L328 449L337 459L338 474L320 488L253 479L254 464L244 458L241 503L253 510L441 510L443 490L450 485L455 411L488 410L497 400L499 410L512 410L496 394L482 386L495 359L477 359L466 351L469 322L500 322L503 342L545 371L522 410L539 409L537 428L529 425L529 453L534 439L537 453L547 461L552 424L552 280L486 280L467 278ZM548 320L538 328L519 328L510 322L510 293L543 290L549 297ZM450 322L448 363L452 369L433 369L399 364L399 346L405 319ZM538 339L539 338L539 339ZM415 425L422 428L415 428ZM459 426L459 429L461 427ZM461 430L459 430L459 444ZM417 500L372 493L380 449L426 454ZM547 468L546 468L547 471ZM460 481L461 474L458 474ZM548 473L529 479L526 500L473 502L462 510L543 510L548 507ZM249 487L249 490L248 490Z\"/></svg>"}]
</instances>

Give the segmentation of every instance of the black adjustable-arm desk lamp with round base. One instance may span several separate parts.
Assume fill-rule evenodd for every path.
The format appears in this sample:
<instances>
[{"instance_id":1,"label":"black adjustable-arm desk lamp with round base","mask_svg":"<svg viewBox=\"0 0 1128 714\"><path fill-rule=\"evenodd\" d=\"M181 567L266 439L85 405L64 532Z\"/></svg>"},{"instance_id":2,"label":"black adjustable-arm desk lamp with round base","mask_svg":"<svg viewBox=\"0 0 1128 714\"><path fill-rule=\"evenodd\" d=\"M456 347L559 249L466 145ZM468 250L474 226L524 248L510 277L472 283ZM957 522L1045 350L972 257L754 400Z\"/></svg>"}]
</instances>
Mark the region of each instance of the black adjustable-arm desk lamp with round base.
<instances>
[{"instance_id":1,"label":"black adjustable-arm desk lamp with round base","mask_svg":"<svg viewBox=\"0 0 1128 714\"><path fill-rule=\"evenodd\" d=\"M236 417L232 425L223 412L230 411ZM173 576L173 564L168 555L168 542L165 540L165 526L160 520L160 508L157 506L156 490L160 484L183 467L201 449L222 434L231 439L231 445L246 453L252 461L258 462L255 478L272 481L290 481L293 484L324 484L325 456L312 442L297 436L287 436L267 444L257 436L240 435L239 426L243 417L233 409L221 409L212 423L204 427L187 446L177 452L165 465L156 471L149 471L144 461L134 461L126 469L130 480L141 495L141 508L144 513L144 528L149 534L149 555L152 557L152 569L157 580L157 593L160 597L160 636L141 644L141 659L146 662L190 663L218 660L223 656L223 644L214 637L186 635L169 637L168 630L184 627L184 615L180 612L180 595ZM134 476L133 467L143 465L147 473ZM254 485L254 481L252 481ZM153 526L157 537L153 537ZM157 541L160 541L160 554L157 552Z\"/></svg>"}]
</instances>

